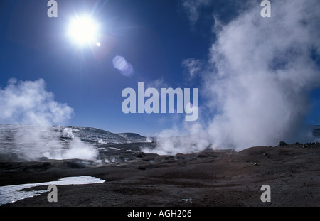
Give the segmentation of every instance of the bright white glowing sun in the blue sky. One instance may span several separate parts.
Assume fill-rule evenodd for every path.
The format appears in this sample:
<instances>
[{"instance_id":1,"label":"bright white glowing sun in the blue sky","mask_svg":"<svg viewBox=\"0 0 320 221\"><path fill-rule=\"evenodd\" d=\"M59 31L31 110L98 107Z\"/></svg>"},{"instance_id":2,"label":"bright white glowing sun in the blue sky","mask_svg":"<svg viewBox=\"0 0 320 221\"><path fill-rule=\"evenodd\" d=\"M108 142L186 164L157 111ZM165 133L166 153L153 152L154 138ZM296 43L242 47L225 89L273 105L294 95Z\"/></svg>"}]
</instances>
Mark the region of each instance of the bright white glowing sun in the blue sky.
<instances>
[{"instance_id":1,"label":"bright white glowing sun in the blue sky","mask_svg":"<svg viewBox=\"0 0 320 221\"><path fill-rule=\"evenodd\" d=\"M75 17L68 26L68 36L79 46L100 45L97 41L99 31L98 23L90 16Z\"/></svg>"}]
</instances>

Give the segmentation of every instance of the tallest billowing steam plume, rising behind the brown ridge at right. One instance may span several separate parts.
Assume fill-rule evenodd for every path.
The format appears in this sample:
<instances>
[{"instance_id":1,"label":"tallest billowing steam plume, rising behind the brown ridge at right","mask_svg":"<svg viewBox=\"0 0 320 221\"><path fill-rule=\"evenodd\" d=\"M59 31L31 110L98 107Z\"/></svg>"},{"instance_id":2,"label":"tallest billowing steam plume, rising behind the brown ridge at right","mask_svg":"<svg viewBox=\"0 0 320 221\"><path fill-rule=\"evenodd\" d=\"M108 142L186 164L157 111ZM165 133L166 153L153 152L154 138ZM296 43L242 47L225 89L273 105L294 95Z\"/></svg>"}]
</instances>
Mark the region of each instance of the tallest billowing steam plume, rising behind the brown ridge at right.
<instances>
[{"instance_id":1,"label":"tallest billowing steam plume, rising behind the brown ridge at right","mask_svg":"<svg viewBox=\"0 0 320 221\"><path fill-rule=\"evenodd\" d=\"M146 151L241 150L310 141L303 122L309 93L320 85L320 2L272 1L271 18L262 18L261 9L254 1L225 26L215 26L209 59L201 68L196 65L203 80L199 93L207 101L199 109L211 113L210 121L189 126L190 136L160 136L158 148ZM191 62L183 64L192 68Z\"/></svg>"}]
</instances>

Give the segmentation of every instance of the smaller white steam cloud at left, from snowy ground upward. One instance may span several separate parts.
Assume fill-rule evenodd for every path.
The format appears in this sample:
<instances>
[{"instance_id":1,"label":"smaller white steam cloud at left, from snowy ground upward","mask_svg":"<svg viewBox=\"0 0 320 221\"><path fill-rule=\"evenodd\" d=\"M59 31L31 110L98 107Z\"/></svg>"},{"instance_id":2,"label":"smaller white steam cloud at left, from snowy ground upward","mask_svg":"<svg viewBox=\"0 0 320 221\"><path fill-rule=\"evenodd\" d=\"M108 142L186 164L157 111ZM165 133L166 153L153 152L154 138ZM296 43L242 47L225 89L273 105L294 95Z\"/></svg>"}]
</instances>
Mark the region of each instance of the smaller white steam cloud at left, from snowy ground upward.
<instances>
[{"instance_id":1,"label":"smaller white steam cloud at left, from snowy ground upward","mask_svg":"<svg viewBox=\"0 0 320 221\"><path fill-rule=\"evenodd\" d=\"M46 91L44 80L9 80L4 89L0 88L0 104L1 123L23 124L14 127L16 132L11 138L14 146L10 147L12 152L21 153L23 158L93 159L97 156L97 150L73 137L72 131L50 127L67 122L73 109L55 102L53 94ZM66 135L70 138L68 146L60 140L60 136Z\"/></svg>"}]
</instances>

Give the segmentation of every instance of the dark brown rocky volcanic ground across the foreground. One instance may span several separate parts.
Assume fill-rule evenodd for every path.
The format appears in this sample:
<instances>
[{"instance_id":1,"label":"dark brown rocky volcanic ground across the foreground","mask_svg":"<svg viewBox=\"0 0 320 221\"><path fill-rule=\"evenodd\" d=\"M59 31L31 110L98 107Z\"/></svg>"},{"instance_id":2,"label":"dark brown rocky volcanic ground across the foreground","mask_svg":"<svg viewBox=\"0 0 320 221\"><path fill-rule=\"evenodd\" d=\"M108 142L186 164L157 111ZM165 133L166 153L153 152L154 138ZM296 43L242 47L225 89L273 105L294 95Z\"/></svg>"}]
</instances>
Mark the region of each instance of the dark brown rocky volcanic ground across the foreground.
<instances>
[{"instance_id":1,"label":"dark brown rocky volcanic ground across the foreground","mask_svg":"<svg viewBox=\"0 0 320 221\"><path fill-rule=\"evenodd\" d=\"M235 151L159 156L139 153L127 163L43 159L1 161L0 185L40 183L67 176L94 176L105 183L59 185L48 193L1 206L320 206L320 145L280 144ZM262 203L262 185L271 202ZM32 190L46 190L38 186Z\"/></svg>"}]
</instances>

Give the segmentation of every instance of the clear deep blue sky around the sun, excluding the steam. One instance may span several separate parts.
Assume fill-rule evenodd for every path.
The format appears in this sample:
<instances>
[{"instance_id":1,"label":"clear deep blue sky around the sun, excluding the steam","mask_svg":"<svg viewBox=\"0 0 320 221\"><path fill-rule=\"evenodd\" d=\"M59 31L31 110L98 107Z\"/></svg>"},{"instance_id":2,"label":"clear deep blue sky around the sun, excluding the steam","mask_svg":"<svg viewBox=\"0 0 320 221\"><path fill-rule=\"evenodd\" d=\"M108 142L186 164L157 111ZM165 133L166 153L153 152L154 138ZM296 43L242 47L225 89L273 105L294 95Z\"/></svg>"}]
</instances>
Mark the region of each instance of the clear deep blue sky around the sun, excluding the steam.
<instances>
[{"instance_id":1,"label":"clear deep blue sky around the sun, excluding the steam","mask_svg":"<svg viewBox=\"0 0 320 221\"><path fill-rule=\"evenodd\" d=\"M148 135L182 127L184 114L124 114L122 90L156 81L164 87L199 87L200 106L205 97L201 80L188 80L181 63L188 58L207 60L215 41L213 12L220 21L230 21L243 1L217 1L201 11L196 23L188 19L180 0L57 2L58 17L48 18L46 0L0 1L0 87L11 78L41 78L56 102L74 109L68 125ZM78 48L66 36L70 18L82 14L100 23L102 47ZM134 75L126 77L114 68L117 55L132 64ZM315 108L306 119L312 124L319 123L318 98L315 90ZM203 120L208 113L200 114Z\"/></svg>"}]
</instances>

